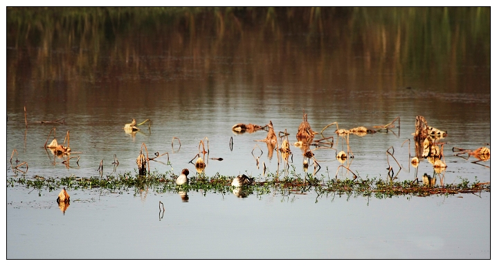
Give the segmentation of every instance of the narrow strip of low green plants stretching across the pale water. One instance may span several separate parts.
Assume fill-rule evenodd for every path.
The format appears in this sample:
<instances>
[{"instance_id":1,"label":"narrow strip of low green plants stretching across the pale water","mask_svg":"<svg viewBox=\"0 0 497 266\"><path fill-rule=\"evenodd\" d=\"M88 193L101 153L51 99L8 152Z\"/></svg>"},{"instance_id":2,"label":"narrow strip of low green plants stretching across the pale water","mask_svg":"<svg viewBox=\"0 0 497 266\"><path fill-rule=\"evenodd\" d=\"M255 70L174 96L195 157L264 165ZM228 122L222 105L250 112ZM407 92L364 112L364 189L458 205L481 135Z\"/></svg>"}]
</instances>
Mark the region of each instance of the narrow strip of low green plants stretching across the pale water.
<instances>
[{"instance_id":1,"label":"narrow strip of low green plants stretching across the pale water","mask_svg":"<svg viewBox=\"0 0 497 266\"><path fill-rule=\"evenodd\" d=\"M244 195L265 195L270 193L289 194L314 194L320 195L344 195L347 197L376 197L379 199L393 196L418 196L431 195L458 195L462 193L490 192L490 182L480 182L476 179L471 183L468 179L460 177L460 183L437 185L436 182L397 179L380 179L377 177L362 179L335 179L325 175L313 177L310 173L298 175L292 172L286 177L269 172L265 177L255 177L254 186L243 186ZM100 188L109 190L111 193L123 193L123 191L134 190L135 194L143 190L152 190L155 193L180 193L188 191L201 191L204 193L232 193L234 187L231 181L234 177L216 174L213 177L199 174L191 177L190 184L177 186L173 172L152 172L149 175L132 174L111 175L107 177L15 177L7 179L7 186L25 186L28 189L37 190L89 190ZM55 200L55 199L54 199Z\"/></svg>"}]
</instances>

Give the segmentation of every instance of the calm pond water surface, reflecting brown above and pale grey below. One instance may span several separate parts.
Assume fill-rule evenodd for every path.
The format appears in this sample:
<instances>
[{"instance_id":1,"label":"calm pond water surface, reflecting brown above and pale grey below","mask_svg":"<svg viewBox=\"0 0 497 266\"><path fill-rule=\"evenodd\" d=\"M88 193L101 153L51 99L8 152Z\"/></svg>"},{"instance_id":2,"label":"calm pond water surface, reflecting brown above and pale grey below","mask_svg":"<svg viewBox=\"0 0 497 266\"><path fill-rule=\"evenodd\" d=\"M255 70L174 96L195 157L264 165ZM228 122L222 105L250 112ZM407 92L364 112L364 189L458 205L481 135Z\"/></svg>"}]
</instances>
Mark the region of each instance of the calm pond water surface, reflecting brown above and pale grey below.
<instances>
[{"instance_id":1,"label":"calm pond water surface, reflecting brown above and pale grey below","mask_svg":"<svg viewBox=\"0 0 497 266\"><path fill-rule=\"evenodd\" d=\"M100 161L104 178L134 173L142 143L149 152L169 152L170 165L161 157L152 171L188 168L195 175L188 161L207 137L208 157L224 159L208 160L207 176L264 180L251 152L257 144L266 171L278 170L276 152L270 157L265 143L254 142L266 132L235 134L231 127L272 121L294 143L305 110L316 132L333 122L371 128L400 118L390 132L350 136L354 158L344 165L361 178L386 179L393 147L399 180L427 173L439 185L490 181L490 160L480 166L452 151L491 148L489 10L323 9L318 20L299 10L183 12L147 23L136 15L114 28L89 26L91 15L80 27L15 24L7 35L6 177L98 177ZM460 20L475 17L460 12L484 18ZM448 132L440 175L426 159L417 173L410 166L417 115ZM59 118L63 125L37 123ZM132 118L149 118L150 130L125 132ZM43 148L53 127L59 142L70 131L78 164L68 168L66 158ZM336 151L347 151L335 129L323 135L334 136L336 150L314 151L323 179L341 165ZM173 137L181 148L172 148ZM402 145L407 139L410 150ZM302 150L290 148L290 165L305 174ZM11 168L14 149L28 162L26 172ZM352 175L341 168L338 178ZM7 258L490 258L490 193L377 199L200 191L182 202L175 193L95 188L69 190L64 214L58 193L6 188Z\"/></svg>"}]
</instances>

